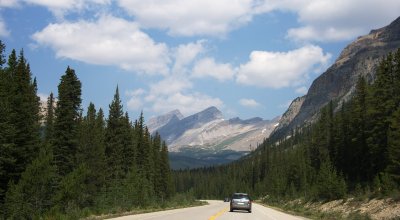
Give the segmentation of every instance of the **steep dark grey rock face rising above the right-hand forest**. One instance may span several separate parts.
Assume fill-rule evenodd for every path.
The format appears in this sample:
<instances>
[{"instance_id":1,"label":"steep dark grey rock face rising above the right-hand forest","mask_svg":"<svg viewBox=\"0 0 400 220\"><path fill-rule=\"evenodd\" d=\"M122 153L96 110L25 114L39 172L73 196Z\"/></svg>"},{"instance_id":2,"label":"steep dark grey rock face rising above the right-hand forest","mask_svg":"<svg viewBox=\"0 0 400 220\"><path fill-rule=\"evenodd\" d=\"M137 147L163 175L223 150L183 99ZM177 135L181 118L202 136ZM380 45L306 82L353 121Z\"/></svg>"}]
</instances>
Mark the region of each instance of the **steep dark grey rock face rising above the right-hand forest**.
<instances>
[{"instance_id":1,"label":"steep dark grey rock face rising above the right-hand forest","mask_svg":"<svg viewBox=\"0 0 400 220\"><path fill-rule=\"evenodd\" d=\"M294 109L292 105L289 107L291 117L282 117L285 118L285 124L280 125L274 133L313 122L319 110L331 100L339 103L347 101L355 91L358 77L364 76L372 82L382 57L399 47L400 17L386 27L359 37L342 51L331 67L314 80L295 117L293 113L296 111L291 110Z\"/></svg>"}]
</instances>

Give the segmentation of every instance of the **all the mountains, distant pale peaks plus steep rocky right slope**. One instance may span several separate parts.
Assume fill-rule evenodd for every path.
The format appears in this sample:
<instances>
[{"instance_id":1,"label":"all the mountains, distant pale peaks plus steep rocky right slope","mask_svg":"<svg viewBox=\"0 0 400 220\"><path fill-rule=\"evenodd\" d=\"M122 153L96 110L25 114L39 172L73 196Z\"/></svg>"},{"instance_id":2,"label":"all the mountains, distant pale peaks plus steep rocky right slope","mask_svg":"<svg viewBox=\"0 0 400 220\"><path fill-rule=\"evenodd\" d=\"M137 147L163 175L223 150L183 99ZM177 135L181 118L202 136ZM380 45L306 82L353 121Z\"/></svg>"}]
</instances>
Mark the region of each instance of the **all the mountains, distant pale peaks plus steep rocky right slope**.
<instances>
[{"instance_id":1,"label":"all the mountains, distant pale peaks plus steep rocky right slope","mask_svg":"<svg viewBox=\"0 0 400 220\"><path fill-rule=\"evenodd\" d=\"M358 78L372 83L380 60L397 48L400 17L345 47L334 64L313 81L307 94L294 99L281 117L225 120L217 108L209 107L188 117L175 110L150 119L148 127L167 142L173 168L230 162L268 137L282 138L293 129L313 123L331 101L340 108L353 96Z\"/></svg>"}]
</instances>

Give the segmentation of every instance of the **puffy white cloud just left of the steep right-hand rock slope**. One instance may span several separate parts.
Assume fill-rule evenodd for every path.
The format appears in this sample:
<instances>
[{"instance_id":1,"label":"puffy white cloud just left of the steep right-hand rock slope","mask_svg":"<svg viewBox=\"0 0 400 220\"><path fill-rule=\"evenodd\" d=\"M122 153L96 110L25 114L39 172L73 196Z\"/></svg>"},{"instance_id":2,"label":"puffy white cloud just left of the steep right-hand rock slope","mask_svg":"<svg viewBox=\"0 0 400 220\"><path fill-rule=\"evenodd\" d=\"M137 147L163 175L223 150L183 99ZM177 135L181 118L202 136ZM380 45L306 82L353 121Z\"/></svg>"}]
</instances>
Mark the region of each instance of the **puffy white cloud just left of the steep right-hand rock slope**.
<instances>
[{"instance_id":1,"label":"puffy white cloud just left of the steep right-hand rock slope","mask_svg":"<svg viewBox=\"0 0 400 220\"><path fill-rule=\"evenodd\" d=\"M268 88L299 85L311 72L327 65L331 55L318 46L304 46L288 52L253 51L240 65L236 81Z\"/></svg>"}]
</instances>

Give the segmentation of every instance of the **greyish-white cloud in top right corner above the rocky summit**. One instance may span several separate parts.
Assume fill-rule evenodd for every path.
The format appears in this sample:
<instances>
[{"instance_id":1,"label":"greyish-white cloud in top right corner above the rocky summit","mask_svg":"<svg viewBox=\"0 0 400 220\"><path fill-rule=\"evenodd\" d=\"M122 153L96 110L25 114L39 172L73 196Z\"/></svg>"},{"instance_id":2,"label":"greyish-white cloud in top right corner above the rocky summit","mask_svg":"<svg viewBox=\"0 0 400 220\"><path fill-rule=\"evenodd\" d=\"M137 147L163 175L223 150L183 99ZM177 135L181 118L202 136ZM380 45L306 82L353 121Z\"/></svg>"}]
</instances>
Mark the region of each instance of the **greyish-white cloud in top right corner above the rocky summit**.
<instances>
[{"instance_id":1,"label":"greyish-white cloud in top right corner above the rocky summit","mask_svg":"<svg viewBox=\"0 0 400 220\"><path fill-rule=\"evenodd\" d=\"M387 25L400 12L398 0L265 0L260 8L296 13L301 26L289 29L287 37L322 42L353 39Z\"/></svg>"}]
</instances>

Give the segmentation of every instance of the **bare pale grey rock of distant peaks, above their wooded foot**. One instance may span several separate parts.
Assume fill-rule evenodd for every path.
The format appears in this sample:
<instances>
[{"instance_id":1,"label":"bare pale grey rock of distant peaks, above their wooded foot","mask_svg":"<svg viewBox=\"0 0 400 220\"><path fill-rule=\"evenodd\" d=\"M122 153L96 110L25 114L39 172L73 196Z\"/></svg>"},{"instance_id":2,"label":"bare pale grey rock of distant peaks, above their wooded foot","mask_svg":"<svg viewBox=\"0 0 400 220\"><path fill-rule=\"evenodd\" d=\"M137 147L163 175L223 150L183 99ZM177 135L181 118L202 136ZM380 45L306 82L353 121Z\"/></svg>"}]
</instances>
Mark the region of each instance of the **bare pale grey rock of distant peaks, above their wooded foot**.
<instances>
[{"instance_id":1,"label":"bare pale grey rock of distant peaks, above their wooded foot","mask_svg":"<svg viewBox=\"0 0 400 220\"><path fill-rule=\"evenodd\" d=\"M173 152L179 152L182 148L216 152L250 151L269 136L277 120L268 121L258 117L225 120L221 111L210 107L183 119L172 117L167 124L155 131Z\"/></svg>"}]
</instances>

